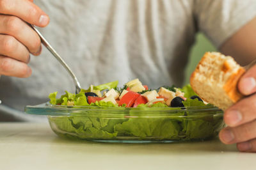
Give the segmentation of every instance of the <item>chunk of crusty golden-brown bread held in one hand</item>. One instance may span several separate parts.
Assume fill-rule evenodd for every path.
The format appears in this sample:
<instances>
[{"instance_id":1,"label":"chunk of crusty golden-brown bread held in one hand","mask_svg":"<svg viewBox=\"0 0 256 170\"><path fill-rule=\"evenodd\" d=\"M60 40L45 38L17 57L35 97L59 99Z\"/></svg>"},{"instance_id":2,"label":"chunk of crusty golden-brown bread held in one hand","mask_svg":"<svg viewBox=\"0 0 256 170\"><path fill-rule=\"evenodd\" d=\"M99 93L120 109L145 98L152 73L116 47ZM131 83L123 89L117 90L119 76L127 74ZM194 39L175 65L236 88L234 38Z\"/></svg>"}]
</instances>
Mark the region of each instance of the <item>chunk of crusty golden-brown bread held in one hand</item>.
<instances>
[{"instance_id":1,"label":"chunk of crusty golden-brown bread held in one hand","mask_svg":"<svg viewBox=\"0 0 256 170\"><path fill-rule=\"evenodd\" d=\"M191 74L190 84L203 100L225 111L244 97L237 90L237 82L244 72L232 57L206 52Z\"/></svg>"}]
</instances>

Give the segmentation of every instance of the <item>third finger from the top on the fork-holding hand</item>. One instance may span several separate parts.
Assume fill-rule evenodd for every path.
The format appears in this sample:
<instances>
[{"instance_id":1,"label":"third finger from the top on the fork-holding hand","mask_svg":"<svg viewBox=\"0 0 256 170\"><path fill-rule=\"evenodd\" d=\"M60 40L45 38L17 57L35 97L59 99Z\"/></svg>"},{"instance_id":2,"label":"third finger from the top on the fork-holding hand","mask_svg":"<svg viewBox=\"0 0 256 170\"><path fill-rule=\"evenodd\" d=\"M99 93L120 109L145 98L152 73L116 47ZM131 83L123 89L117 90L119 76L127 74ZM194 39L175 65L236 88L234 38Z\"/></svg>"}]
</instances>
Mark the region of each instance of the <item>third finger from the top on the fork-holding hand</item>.
<instances>
[{"instance_id":1,"label":"third finger from the top on the fork-holding hand","mask_svg":"<svg viewBox=\"0 0 256 170\"><path fill-rule=\"evenodd\" d=\"M28 49L10 35L0 35L0 54L24 63L29 62Z\"/></svg>"}]
</instances>

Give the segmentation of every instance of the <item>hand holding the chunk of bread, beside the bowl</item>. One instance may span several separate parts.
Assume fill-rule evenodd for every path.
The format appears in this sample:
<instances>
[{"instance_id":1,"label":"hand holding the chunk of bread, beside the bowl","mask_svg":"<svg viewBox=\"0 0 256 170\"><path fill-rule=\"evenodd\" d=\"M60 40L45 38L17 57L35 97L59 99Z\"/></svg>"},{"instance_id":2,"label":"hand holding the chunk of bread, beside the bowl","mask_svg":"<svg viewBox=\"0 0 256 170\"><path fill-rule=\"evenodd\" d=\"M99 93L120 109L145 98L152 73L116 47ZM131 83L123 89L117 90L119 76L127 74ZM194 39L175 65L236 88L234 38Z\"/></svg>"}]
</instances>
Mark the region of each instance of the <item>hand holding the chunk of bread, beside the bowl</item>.
<instances>
[{"instance_id":1,"label":"hand holding the chunk of bread, beside the bowl","mask_svg":"<svg viewBox=\"0 0 256 170\"><path fill-rule=\"evenodd\" d=\"M225 144L237 143L239 151L256 151L256 65L250 68L238 84L247 97L228 108L224 121L228 125L220 132Z\"/></svg>"}]
</instances>

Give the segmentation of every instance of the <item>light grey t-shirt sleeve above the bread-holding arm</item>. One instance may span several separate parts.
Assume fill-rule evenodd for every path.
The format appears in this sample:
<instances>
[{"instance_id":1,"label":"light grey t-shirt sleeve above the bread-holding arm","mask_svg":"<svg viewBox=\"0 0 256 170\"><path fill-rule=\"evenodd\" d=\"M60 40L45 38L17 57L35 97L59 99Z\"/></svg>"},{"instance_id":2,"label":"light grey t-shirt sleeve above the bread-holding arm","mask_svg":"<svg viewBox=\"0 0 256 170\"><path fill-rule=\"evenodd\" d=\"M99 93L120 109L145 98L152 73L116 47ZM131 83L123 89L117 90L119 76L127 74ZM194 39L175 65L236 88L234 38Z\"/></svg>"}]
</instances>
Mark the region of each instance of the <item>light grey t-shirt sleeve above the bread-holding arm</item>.
<instances>
[{"instance_id":1,"label":"light grey t-shirt sleeve above the bread-holding arm","mask_svg":"<svg viewBox=\"0 0 256 170\"><path fill-rule=\"evenodd\" d=\"M256 17L256 0L195 0L198 29L217 48Z\"/></svg>"}]
</instances>

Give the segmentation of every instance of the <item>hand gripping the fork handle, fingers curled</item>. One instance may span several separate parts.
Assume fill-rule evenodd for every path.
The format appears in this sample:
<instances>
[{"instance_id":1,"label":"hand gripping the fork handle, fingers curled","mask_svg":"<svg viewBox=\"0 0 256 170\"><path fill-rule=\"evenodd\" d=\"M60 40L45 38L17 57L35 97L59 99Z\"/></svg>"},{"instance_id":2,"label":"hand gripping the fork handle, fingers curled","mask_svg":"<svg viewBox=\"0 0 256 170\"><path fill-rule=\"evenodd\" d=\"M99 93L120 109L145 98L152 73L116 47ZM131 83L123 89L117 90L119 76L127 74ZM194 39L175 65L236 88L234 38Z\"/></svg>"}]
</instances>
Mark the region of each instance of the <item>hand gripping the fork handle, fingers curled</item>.
<instances>
[{"instance_id":1,"label":"hand gripping the fork handle, fingers curled","mask_svg":"<svg viewBox=\"0 0 256 170\"><path fill-rule=\"evenodd\" d=\"M0 75L29 77L29 53L38 56L40 37L28 26L45 27L49 17L33 0L0 0Z\"/></svg>"}]
</instances>

